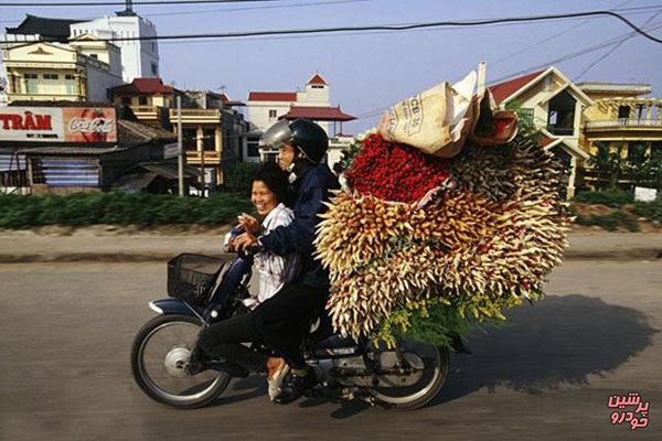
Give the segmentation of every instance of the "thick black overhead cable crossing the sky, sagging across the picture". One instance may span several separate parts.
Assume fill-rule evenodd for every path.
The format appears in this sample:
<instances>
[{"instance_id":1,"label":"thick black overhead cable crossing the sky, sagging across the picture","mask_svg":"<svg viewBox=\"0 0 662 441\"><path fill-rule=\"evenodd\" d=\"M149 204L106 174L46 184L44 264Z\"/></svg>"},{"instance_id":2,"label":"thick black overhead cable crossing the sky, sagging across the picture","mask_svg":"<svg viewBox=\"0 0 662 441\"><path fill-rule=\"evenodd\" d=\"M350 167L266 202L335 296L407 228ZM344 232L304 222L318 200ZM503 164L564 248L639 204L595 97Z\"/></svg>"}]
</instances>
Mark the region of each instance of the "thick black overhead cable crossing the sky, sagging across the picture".
<instances>
[{"instance_id":1,"label":"thick black overhead cable crossing the sky, sagging across the picture","mask_svg":"<svg viewBox=\"0 0 662 441\"><path fill-rule=\"evenodd\" d=\"M98 39L98 41L106 42L122 42L122 41L152 41L152 40L199 40L199 39L236 39L238 36L260 36L260 35L303 35L303 34L322 34L322 33L338 33L338 32L365 32L365 31L410 31L416 29L434 29L434 28L447 28L447 26L479 26L487 24L498 23L523 23L523 22L536 22L536 21L548 21L558 19L572 19L580 17L612 17L628 26L632 28L636 32L643 35L644 37L662 44L662 40L653 35L650 35L633 24L624 17L611 12L611 11L587 11L587 12L574 12L564 14L547 14L547 15L528 15L528 17L510 17L501 19L488 19L488 20L474 20L474 21L437 21L437 22L424 22L404 25L369 25L369 26L338 26L338 28L311 28L311 29L287 29L287 30L273 30L273 31L241 31L241 32L227 32L227 33L204 33L204 34L173 34L173 35L152 35L152 36L126 36L115 39ZM50 42L55 39L42 39L35 42Z\"/></svg>"}]
</instances>

